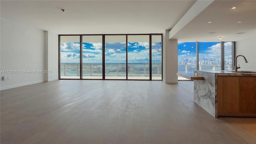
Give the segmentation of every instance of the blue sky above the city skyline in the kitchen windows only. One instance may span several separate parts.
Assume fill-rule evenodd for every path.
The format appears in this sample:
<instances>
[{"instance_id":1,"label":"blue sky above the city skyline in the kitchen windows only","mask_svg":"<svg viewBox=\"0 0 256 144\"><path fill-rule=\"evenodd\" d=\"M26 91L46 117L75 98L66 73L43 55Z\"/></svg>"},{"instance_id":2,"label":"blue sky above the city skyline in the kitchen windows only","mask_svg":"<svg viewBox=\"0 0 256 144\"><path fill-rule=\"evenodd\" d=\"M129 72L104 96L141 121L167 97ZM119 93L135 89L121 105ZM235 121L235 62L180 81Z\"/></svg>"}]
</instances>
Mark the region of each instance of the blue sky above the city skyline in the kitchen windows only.
<instances>
[{"instance_id":1,"label":"blue sky above the city skyline in the kitchen windows only","mask_svg":"<svg viewBox=\"0 0 256 144\"><path fill-rule=\"evenodd\" d=\"M232 61L232 43L224 43L224 59ZM220 61L220 42L199 42L199 61L214 60ZM178 63L184 60L196 61L196 42L178 42Z\"/></svg>"}]
</instances>

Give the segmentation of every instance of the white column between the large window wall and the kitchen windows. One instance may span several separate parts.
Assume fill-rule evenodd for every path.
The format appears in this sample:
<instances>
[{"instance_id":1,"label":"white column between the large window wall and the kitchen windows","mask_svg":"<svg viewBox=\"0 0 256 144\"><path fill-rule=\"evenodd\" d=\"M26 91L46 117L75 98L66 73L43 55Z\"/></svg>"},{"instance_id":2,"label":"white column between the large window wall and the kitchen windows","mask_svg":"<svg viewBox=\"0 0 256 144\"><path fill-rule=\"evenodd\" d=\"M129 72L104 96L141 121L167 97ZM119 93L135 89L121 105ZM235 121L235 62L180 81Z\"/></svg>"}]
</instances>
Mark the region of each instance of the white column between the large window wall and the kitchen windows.
<instances>
[{"instance_id":1,"label":"white column between the large window wall and the kitchen windows","mask_svg":"<svg viewBox=\"0 0 256 144\"><path fill-rule=\"evenodd\" d=\"M165 31L163 38L163 81L165 83L178 83L178 40L169 40L169 31Z\"/></svg>"}]
</instances>

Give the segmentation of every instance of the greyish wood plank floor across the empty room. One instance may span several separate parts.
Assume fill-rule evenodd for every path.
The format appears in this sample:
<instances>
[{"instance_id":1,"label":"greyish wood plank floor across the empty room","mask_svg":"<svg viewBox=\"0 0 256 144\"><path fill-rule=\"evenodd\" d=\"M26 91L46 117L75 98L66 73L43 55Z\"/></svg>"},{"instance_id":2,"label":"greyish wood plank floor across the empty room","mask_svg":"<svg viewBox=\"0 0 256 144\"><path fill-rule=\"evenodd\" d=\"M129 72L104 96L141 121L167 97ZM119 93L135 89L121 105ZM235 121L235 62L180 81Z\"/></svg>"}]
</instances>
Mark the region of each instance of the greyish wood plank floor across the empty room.
<instances>
[{"instance_id":1,"label":"greyish wood plank floor across the empty room","mask_svg":"<svg viewBox=\"0 0 256 144\"><path fill-rule=\"evenodd\" d=\"M193 82L57 80L1 91L1 144L256 144L256 118L213 118Z\"/></svg>"}]
</instances>

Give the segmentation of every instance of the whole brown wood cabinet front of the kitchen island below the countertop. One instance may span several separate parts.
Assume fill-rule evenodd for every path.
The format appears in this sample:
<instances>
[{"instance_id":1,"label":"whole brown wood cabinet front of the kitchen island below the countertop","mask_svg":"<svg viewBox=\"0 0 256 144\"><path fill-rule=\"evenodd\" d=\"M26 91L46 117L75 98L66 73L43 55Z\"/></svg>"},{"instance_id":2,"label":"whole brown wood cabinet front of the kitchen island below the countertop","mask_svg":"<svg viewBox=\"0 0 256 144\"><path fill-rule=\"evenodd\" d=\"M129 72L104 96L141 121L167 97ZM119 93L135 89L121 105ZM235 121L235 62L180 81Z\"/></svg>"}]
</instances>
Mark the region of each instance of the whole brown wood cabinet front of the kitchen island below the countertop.
<instances>
[{"instance_id":1,"label":"whole brown wood cabinet front of the kitchen island below the countertop","mask_svg":"<svg viewBox=\"0 0 256 144\"><path fill-rule=\"evenodd\" d=\"M217 77L218 116L256 116L256 77Z\"/></svg>"}]
</instances>

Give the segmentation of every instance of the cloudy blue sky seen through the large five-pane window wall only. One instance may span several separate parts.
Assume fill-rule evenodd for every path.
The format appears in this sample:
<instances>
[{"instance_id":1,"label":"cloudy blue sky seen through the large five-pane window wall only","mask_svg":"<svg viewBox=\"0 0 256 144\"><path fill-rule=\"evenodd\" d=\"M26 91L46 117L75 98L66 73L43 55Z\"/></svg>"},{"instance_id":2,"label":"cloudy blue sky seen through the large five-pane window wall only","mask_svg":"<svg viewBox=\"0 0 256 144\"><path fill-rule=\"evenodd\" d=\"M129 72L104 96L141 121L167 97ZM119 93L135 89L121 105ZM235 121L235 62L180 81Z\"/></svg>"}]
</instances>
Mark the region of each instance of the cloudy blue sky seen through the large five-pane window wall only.
<instances>
[{"instance_id":1,"label":"cloudy blue sky seen through the large five-pane window wall only","mask_svg":"<svg viewBox=\"0 0 256 144\"><path fill-rule=\"evenodd\" d=\"M102 43L83 43L83 63L102 63ZM60 46L61 63L80 62L80 43L62 42ZM161 63L162 43L152 42L152 63ZM107 42L105 62L126 63L126 43ZM149 42L128 42L128 63L148 63Z\"/></svg>"}]
</instances>

